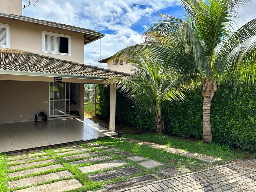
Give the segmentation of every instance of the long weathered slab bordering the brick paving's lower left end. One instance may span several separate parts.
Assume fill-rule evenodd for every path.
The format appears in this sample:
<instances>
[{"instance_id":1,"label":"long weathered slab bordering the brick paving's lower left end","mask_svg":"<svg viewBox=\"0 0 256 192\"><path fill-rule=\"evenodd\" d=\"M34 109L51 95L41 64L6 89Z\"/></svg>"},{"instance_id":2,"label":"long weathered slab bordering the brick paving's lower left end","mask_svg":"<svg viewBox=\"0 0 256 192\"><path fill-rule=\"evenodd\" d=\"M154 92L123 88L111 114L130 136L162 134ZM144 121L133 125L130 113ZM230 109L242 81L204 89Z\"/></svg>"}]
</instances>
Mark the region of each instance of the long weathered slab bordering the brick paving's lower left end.
<instances>
[{"instance_id":1,"label":"long weathered slab bordering the brick paving's lower left end","mask_svg":"<svg viewBox=\"0 0 256 192\"><path fill-rule=\"evenodd\" d=\"M148 175L143 175L143 176L139 176L139 177L129 178L124 181L110 183L107 185L103 185L102 187L104 187L106 191L112 191L112 190L115 190L118 188L125 188L125 187L131 186L131 185L139 185L142 183L152 182L152 180L154 180L154 179L159 179L159 177L157 177L153 174L148 174Z\"/></svg>"}]
</instances>

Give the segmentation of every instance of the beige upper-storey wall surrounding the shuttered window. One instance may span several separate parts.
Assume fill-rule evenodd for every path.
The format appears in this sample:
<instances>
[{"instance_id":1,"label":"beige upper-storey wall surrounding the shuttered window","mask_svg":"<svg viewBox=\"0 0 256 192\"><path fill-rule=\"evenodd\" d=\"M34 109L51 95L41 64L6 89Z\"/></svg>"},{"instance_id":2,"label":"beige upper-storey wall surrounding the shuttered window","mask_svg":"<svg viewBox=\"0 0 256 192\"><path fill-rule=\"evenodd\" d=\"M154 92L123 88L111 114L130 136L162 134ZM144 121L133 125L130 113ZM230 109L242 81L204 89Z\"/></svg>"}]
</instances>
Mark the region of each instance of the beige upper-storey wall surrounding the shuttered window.
<instances>
[{"instance_id":1,"label":"beige upper-storey wall surrounding the shuttered window","mask_svg":"<svg viewBox=\"0 0 256 192\"><path fill-rule=\"evenodd\" d=\"M0 17L0 24L10 25L10 49L19 49L58 59L84 63L84 34L82 33L5 17ZM71 36L71 56L43 53L42 31Z\"/></svg>"}]
</instances>

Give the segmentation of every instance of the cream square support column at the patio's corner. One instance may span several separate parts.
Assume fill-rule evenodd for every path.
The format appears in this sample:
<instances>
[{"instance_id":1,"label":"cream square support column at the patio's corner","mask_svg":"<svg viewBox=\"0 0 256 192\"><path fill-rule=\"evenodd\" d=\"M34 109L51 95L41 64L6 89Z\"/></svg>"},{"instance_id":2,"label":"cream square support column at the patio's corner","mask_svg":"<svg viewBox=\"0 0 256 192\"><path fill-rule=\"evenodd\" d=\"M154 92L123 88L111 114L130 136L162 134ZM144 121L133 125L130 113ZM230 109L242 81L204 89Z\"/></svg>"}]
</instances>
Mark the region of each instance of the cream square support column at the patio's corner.
<instances>
[{"instance_id":1,"label":"cream square support column at the patio's corner","mask_svg":"<svg viewBox=\"0 0 256 192\"><path fill-rule=\"evenodd\" d=\"M109 131L116 129L116 87L110 86L110 113L109 113Z\"/></svg>"}]
</instances>

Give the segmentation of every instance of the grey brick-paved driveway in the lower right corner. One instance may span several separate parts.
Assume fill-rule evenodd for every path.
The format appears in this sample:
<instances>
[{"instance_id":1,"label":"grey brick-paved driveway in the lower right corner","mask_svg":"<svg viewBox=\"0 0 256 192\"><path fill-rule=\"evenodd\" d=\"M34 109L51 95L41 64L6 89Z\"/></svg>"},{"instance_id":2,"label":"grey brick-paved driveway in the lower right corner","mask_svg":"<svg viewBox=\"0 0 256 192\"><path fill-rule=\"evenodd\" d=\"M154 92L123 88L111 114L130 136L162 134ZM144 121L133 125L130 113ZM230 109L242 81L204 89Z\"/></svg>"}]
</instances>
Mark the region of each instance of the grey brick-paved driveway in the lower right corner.
<instances>
[{"instance_id":1,"label":"grey brick-paved driveway in the lower right corner","mask_svg":"<svg viewBox=\"0 0 256 192\"><path fill-rule=\"evenodd\" d=\"M256 191L256 159L188 173L118 192Z\"/></svg>"}]
</instances>

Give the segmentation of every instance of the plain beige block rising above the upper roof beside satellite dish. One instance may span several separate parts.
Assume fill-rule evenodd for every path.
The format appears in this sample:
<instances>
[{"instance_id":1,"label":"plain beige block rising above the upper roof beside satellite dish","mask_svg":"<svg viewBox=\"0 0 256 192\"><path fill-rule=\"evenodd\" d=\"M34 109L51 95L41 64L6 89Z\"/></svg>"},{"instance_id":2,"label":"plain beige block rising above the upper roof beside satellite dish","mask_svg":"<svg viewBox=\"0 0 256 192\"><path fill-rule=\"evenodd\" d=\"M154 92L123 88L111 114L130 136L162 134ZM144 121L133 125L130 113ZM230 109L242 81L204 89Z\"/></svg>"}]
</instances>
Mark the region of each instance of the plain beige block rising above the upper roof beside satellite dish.
<instances>
[{"instance_id":1,"label":"plain beige block rising above the upper roof beside satellite dish","mask_svg":"<svg viewBox=\"0 0 256 192\"><path fill-rule=\"evenodd\" d=\"M22 0L1 0L0 4L0 13L22 15Z\"/></svg>"}]
</instances>

